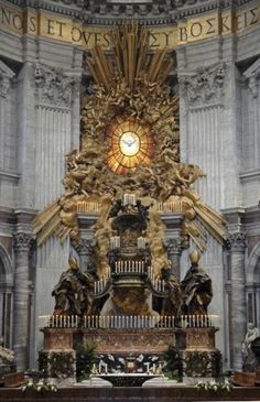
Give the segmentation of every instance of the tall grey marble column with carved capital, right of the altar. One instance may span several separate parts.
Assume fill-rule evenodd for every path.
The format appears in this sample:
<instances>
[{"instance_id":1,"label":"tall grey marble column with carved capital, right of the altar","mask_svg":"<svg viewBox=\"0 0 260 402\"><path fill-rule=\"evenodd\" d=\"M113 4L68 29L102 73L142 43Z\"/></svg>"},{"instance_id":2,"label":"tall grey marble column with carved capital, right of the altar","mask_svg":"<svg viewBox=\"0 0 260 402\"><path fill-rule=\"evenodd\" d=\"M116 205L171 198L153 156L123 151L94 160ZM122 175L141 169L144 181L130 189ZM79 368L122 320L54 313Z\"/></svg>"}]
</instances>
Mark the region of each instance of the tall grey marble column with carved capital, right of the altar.
<instances>
[{"instance_id":1,"label":"tall grey marble column with carved capital, right of the altar","mask_svg":"<svg viewBox=\"0 0 260 402\"><path fill-rule=\"evenodd\" d=\"M247 237L238 231L227 240L230 249L231 265L231 366L235 370L242 368L241 341L247 333L247 302L246 302L246 272L245 272L245 251Z\"/></svg>"}]
</instances>

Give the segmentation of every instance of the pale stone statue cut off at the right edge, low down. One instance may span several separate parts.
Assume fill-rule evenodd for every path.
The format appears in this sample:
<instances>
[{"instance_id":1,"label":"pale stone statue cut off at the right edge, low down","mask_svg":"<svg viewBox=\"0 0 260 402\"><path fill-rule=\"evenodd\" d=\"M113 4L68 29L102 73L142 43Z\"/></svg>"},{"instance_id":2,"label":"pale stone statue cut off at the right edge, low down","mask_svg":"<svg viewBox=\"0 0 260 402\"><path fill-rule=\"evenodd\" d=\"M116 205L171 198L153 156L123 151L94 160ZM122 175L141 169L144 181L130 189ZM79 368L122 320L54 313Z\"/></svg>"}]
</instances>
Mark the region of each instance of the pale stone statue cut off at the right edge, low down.
<instances>
[{"instance_id":1,"label":"pale stone statue cut off at the right edge, low down","mask_svg":"<svg viewBox=\"0 0 260 402\"><path fill-rule=\"evenodd\" d=\"M253 340L260 337L260 329L254 327L252 323L248 324L248 332L242 340L242 368L245 371L254 371L258 366L256 355L253 354L251 346Z\"/></svg>"}]
</instances>

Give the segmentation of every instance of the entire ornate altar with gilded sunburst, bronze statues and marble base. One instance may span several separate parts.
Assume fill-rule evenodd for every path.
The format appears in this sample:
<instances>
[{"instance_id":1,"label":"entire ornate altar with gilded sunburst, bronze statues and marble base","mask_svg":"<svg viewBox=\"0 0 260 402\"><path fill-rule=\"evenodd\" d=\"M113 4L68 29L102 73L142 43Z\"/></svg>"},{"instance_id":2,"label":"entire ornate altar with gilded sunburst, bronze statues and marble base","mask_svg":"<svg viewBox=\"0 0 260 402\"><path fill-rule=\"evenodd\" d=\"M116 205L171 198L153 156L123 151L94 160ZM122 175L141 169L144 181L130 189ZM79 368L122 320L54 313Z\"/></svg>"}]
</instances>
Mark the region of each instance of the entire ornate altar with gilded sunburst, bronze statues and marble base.
<instances>
[{"instance_id":1,"label":"entire ornate altar with gilded sunburst, bronze statues and marble base","mask_svg":"<svg viewBox=\"0 0 260 402\"><path fill-rule=\"evenodd\" d=\"M111 43L110 55L96 45L88 57L95 83L82 99L80 148L66 155L65 194L34 220L39 247L69 236L80 262L71 257L53 290L40 366L52 374L63 358L73 376L95 344L99 371L155 372L172 346L180 373L215 376L212 281L198 260L207 233L224 243L226 221L192 188L204 172L180 159L173 56L151 53L138 24L115 29Z\"/></svg>"}]
</instances>

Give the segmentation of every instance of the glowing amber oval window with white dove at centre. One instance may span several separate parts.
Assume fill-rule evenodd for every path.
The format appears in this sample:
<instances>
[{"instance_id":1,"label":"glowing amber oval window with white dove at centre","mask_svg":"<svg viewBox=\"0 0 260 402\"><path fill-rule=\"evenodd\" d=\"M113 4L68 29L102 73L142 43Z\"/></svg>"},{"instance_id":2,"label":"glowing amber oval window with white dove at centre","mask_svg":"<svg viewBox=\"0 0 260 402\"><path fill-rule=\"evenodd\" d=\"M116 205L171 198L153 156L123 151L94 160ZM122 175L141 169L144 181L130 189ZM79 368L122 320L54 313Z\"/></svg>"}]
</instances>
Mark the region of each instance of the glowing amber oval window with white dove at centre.
<instances>
[{"instance_id":1,"label":"glowing amber oval window with white dove at centre","mask_svg":"<svg viewBox=\"0 0 260 402\"><path fill-rule=\"evenodd\" d=\"M139 165L149 166L154 153L150 127L134 118L117 116L105 131L108 142L107 165L127 175Z\"/></svg>"}]
</instances>

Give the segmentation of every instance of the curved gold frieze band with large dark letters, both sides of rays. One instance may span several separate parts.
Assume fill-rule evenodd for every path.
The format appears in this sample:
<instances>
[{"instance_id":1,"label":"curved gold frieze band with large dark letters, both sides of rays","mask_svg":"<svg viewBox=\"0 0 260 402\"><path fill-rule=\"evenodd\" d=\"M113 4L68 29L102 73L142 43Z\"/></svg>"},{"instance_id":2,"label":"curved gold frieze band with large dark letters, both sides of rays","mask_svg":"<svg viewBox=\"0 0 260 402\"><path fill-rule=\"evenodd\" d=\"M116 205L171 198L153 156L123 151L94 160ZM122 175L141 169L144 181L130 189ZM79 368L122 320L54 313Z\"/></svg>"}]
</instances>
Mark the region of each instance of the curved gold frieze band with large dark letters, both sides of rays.
<instances>
[{"instance_id":1,"label":"curved gold frieze band with large dark letters, both sides of rays","mask_svg":"<svg viewBox=\"0 0 260 402\"><path fill-rule=\"evenodd\" d=\"M3 2L2 2L3 3ZM260 4L243 7L232 12L206 13L188 18L172 26L151 28L151 50L175 48L177 45L196 42L217 35L241 33L260 24ZM0 6L0 31L15 34L31 34L48 37L55 41L91 48L100 44L104 50L110 48L109 29L84 25L69 18L59 18L53 13L22 11L8 3Z\"/></svg>"}]
</instances>

